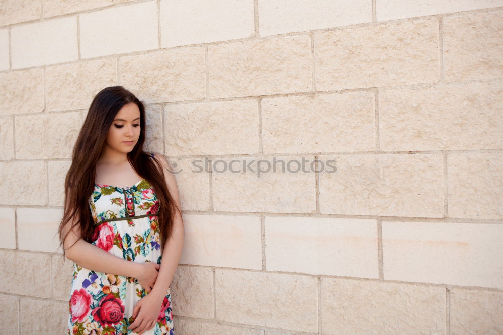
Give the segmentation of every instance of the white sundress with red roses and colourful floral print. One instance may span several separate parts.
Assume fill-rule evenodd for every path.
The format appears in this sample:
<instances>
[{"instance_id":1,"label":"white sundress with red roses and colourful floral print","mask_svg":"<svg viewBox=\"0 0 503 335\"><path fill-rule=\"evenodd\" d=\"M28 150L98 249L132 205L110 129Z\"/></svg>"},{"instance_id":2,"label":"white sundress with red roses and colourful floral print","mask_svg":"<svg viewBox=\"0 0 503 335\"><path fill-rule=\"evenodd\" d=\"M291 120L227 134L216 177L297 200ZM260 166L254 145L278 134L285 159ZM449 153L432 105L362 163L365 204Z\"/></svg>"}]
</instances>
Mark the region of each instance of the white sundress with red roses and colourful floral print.
<instances>
[{"instance_id":1,"label":"white sundress with red roses and colourful floral print","mask_svg":"<svg viewBox=\"0 0 503 335\"><path fill-rule=\"evenodd\" d=\"M89 205L95 221L93 245L132 262L161 262L159 202L142 179L131 187L95 184ZM92 271L73 263L68 334L136 334L136 302L147 293L135 278ZM174 334L170 288L154 327L145 335Z\"/></svg>"}]
</instances>

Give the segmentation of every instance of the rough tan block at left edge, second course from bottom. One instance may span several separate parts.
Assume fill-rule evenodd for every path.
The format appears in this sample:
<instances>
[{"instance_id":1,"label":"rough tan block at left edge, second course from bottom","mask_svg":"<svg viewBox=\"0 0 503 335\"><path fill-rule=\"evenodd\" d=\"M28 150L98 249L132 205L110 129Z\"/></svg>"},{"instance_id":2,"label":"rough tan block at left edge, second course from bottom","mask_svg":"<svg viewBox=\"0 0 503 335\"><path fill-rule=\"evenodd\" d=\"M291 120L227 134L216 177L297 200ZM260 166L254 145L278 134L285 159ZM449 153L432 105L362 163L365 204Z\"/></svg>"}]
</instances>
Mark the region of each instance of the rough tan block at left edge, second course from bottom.
<instances>
[{"instance_id":1,"label":"rough tan block at left edge, second course from bottom","mask_svg":"<svg viewBox=\"0 0 503 335\"><path fill-rule=\"evenodd\" d=\"M0 269L0 292L51 297L50 255L0 250Z\"/></svg>"}]
</instances>

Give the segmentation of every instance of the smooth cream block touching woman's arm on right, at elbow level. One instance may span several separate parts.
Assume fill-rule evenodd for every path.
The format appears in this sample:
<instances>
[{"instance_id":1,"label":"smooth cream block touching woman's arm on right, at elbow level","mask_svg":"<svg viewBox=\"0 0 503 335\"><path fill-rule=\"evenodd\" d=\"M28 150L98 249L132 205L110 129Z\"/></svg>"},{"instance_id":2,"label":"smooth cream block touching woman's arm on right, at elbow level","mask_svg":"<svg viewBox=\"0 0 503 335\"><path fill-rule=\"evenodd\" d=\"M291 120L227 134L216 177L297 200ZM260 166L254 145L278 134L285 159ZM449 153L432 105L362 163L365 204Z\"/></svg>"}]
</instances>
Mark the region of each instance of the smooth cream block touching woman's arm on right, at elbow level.
<instances>
[{"instance_id":1,"label":"smooth cream block touching woman's arm on right, at elbow level","mask_svg":"<svg viewBox=\"0 0 503 335\"><path fill-rule=\"evenodd\" d=\"M260 217L184 214L180 263L262 270Z\"/></svg>"}]
</instances>

